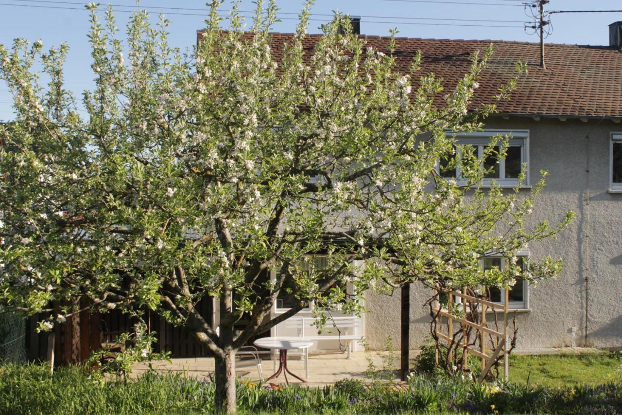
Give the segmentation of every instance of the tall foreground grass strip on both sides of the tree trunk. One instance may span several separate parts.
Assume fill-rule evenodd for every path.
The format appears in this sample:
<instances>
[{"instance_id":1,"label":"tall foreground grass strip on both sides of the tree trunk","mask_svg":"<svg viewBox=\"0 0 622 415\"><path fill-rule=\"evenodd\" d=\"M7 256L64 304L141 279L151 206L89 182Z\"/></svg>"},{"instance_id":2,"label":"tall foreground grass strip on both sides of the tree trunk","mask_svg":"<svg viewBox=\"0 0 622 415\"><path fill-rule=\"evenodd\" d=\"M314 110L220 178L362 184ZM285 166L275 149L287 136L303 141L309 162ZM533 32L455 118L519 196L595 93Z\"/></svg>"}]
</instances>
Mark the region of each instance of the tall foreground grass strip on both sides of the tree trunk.
<instances>
[{"instance_id":1,"label":"tall foreground grass strip on both sides of the tree trunk","mask_svg":"<svg viewBox=\"0 0 622 415\"><path fill-rule=\"evenodd\" d=\"M50 376L41 365L0 365L0 414L214 413L214 385L180 374L145 373L105 381L83 367ZM325 388L238 384L241 414L622 413L622 383L562 389L524 383L477 384L419 374L407 391L348 379Z\"/></svg>"}]
</instances>

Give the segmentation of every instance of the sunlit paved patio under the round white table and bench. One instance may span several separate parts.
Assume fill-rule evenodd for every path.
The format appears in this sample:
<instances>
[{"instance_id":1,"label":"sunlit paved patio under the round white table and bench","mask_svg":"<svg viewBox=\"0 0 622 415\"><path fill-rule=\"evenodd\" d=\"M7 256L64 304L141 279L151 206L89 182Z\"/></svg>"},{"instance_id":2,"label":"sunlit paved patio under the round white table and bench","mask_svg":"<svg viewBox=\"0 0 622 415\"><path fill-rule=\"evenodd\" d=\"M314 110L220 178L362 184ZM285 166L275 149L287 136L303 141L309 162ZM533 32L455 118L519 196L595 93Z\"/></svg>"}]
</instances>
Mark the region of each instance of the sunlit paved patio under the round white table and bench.
<instances>
[{"instance_id":1,"label":"sunlit paved patio under the round white table and bench","mask_svg":"<svg viewBox=\"0 0 622 415\"><path fill-rule=\"evenodd\" d=\"M411 357L414 357L419 353L418 350L411 351ZM309 385L312 384L327 384L335 383L339 379L343 378L355 378L369 380L365 371L369 367L369 361L371 359L376 369L383 368L383 358L376 352L364 353L353 352L352 358L348 359L346 353L319 353L311 354L309 356ZM393 359L393 368L397 370L399 366L399 354L396 353ZM305 374L305 362L300 355L288 356L287 365L289 370L304 377ZM277 356L278 366L278 356ZM172 371L185 373L187 376L196 378L209 377L214 371L213 358L176 358L172 359L172 363L167 361L152 362L152 368L158 371ZM133 375L144 373L148 370L148 366L144 363L134 366ZM268 356L264 356L262 360L262 370L264 379L271 376L274 373L274 361ZM249 381L258 381L259 375L257 372L257 366L253 359L238 358L236 359L236 371L238 376ZM397 373L397 372L396 372ZM300 383L292 376L287 376L290 383ZM280 374L277 378L273 378L271 383L285 383L283 374Z\"/></svg>"}]
</instances>

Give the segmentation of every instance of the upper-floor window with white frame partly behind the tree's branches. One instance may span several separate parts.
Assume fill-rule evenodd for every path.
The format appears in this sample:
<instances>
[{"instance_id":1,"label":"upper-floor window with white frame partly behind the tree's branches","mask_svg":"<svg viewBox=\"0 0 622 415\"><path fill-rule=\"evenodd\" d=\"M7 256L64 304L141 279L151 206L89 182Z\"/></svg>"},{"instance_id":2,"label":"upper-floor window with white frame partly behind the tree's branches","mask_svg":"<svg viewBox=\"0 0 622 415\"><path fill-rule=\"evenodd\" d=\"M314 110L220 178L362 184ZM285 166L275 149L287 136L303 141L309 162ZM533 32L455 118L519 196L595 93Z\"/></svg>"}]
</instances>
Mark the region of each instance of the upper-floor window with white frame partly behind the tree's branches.
<instances>
[{"instance_id":1,"label":"upper-floor window with white frame partly behind the tree's branches","mask_svg":"<svg viewBox=\"0 0 622 415\"><path fill-rule=\"evenodd\" d=\"M450 133L448 133L450 134ZM471 155L481 161L483 168L488 171L484 178L485 185L496 181L500 186L516 186L521 174L523 164L526 163L526 179L523 184L529 184L529 131L481 131L477 133L451 133L457 139L455 152L466 158ZM503 158L496 154L484 156L485 148L490 144L490 139L496 135L511 135L508 149ZM501 148L494 149L498 153ZM439 172L444 178L461 179L460 165L451 166L450 161L455 155L447 156L439 161Z\"/></svg>"}]
</instances>

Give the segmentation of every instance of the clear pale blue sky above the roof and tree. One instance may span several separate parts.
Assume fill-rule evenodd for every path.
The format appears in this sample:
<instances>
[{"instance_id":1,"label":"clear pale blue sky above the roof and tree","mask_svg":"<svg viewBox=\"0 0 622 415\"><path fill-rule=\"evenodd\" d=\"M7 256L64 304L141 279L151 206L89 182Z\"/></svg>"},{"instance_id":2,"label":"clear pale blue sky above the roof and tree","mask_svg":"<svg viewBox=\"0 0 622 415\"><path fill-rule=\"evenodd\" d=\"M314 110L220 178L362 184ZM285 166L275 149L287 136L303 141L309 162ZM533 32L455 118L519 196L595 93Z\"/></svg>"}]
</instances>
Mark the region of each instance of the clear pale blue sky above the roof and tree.
<instances>
[{"instance_id":1,"label":"clear pale blue sky above the roof and tree","mask_svg":"<svg viewBox=\"0 0 622 415\"><path fill-rule=\"evenodd\" d=\"M461 3L481 4L461 4ZM75 3L75 4L73 4ZM136 3L132 0L113 0L117 10L118 26L123 27L129 16L129 7ZM23 6L10 6L22 4ZM83 4L83 3L82 3ZM107 4L103 2L103 4ZM295 27L295 14L302 7L301 0L280 0L277 2L282 17L275 31L292 32ZM27 6L27 7L24 7ZM39 7L34 7L39 6ZM44 7L40 7L44 6ZM47 7L67 7L47 8ZM177 47L194 44L196 31L203 27L203 16L188 16L173 13L202 14L202 11L165 10L158 7L185 7L207 11L202 0L144 0L141 6L153 7L149 11L162 11L172 21L170 42ZM6 0L0 4L0 44L11 45L16 37L26 37L30 41L42 39L45 47L66 41L70 45L67 60L67 85L77 97L85 88L91 86L93 75L90 72L90 50L86 39L88 31L88 12L81 10L79 0L50 2L33 0ZM251 0L240 2L243 11L253 10ZM225 2L222 9L230 9L230 2ZM551 0L545 7L554 10L585 9L622 9L620 0ZM506 41L538 42L538 37L527 34L523 22L530 20L526 16L520 0L439 0L439 1L404 1L404 0L317 0L312 12L332 14L333 11L363 16L361 32L369 35L386 36L389 29L397 27L398 36L425 37L437 39L494 39ZM291 14L287 14L291 13ZM224 14L224 13L223 13ZM326 16L313 16L313 19L328 19ZM456 19L456 20L432 20ZM460 21L480 20L480 21ZM608 44L608 27L611 22L622 21L622 13L590 14L553 14L554 31L547 42L567 44ZM312 21L310 32L319 32L322 22ZM415 24L416 23L416 24ZM449 26L449 25L485 25ZM11 95L6 85L0 81L0 120L12 117Z\"/></svg>"}]
</instances>

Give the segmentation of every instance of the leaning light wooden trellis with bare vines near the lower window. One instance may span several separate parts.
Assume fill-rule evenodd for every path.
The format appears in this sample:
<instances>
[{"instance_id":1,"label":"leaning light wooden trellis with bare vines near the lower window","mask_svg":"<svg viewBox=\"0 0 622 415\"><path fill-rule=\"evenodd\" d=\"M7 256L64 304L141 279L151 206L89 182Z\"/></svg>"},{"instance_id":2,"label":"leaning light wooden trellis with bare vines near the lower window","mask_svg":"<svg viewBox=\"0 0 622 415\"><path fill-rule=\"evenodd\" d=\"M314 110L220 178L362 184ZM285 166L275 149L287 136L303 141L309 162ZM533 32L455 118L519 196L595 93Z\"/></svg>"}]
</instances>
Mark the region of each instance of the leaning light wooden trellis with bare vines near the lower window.
<instances>
[{"instance_id":1,"label":"leaning light wooden trellis with bare vines near the lower window","mask_svg":"<svg viewBox=\"0 0 622 415\"><path fill-rule=\"evenodd\" d=\"M462 348L462 365L463 368L468 368L468 354L471 353L475 356L481 358L481 374L478 378L478 382L482 382L486 375L493 368L493 365L496 361L499 361L499 358L503 356L503 376L504 379L508 380L508 355L506 351L508 350L508 301L509 301L509 293L508 290L505 290L505 302L504 304L493 303L483 298L473 297L471 295L466 295L467 290L465 289L463 293L451 291L448 295L447 302L447 310L441 308L439 301L437 300L434 304L434 318L445 317L447 318L447 335L440 332L442 325L435 325L435 335L439 340L445 340L448 342L448 357L449 360L453 360L453 347L455 345L454 340L454 331L453 325L454 323L458 323L460 325L460 329L462 330L462 341L458 345ZM452 314L452 310L455 310L455 305L458 303L454 302L454 298L460 298L460 303L462 303L462 310L464 314L464 318L459 317L457 315ZM439 298L437 296L437 298ZM477 306L473 308L480 308L477 310L481 312L480 321L473 322L468 320L467 307L468 303L471 305L477 304ZM458 307L460 307L458 305ZM472 307L472 306L471 306ZM493 330L486 325L486 313L490 311L494 312L495 315L495 323L498 323L498 312L500 310L503 312L503 333L498 330ZM469 345L469 335L467 327L471 327L475 329L475 336L479 336L480 340L480 350L476 350ZM488 355L488 350L486 348L486 336L493 336L497 338L496 347L494 350L491 350L491 354ZM436 365L439 365L439 348L436 348Z\"/></svg>"}]
</instances>

